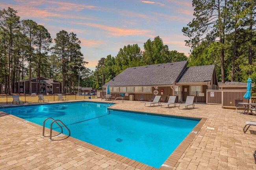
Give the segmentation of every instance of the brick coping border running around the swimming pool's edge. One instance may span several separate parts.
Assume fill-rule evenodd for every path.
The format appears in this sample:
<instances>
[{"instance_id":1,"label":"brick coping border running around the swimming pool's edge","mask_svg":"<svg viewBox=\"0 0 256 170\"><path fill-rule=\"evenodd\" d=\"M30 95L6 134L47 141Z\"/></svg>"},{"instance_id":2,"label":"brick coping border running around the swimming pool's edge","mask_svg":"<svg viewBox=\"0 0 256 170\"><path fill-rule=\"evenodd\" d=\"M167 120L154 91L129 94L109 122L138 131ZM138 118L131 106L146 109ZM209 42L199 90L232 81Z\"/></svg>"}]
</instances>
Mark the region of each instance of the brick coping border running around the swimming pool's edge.
<instances>
[{"instance_id":1,"label":"brick coping border running around the swimming pool's edge","mask_svg":"<svg viewBox=\"0 0 256 170\"><path fill-rule=\"evenodd\" d=\"M70 102L85 102L84 101L70 101ZM90 101L90 102L94 102L94 101ZM44 104L59 104L59 103L67 103L67 102L54 102L54 103L44 103ZM109 102L95 102L95 103L109 103ZM35 103L35 104L30 104L30 105L26 105L26 106L38 106L38 105L41 105L42 103ZM15 106L15 107L19 107L20 105L18 106ZM113 106L113 105L112 105ZM5 108L12 108L12 106L9 106L9 107L5 107ZM122 109L113 109L111 108L111 106L108 107L108 110L117 110L117 111L124 111L124 112L137 112L137 111L132 111L132 110L122 110ZM0 111L1 112L1 111ZM145 113L147 114L148 112L137 112L137 113ZM11 115L9 113L6 113L4 111L2 111L2 114L4 115L8 115L14 119L17 119L19 121L26 121L25 119L22 119L20 117L17 117L17 116L14 116L14 115ZM200 119L200 121L198 122L198 124L195 126L195 128L193 128L192 131L199 131L202 126L204 125L204 123L206 122L207 118L205 117L192 117L192 116L180 116L180 115L167 115L167 114L159 114L159 113L150 113L152 115L165 115L165 116L171 116L171 117L180 117L180 118L191 118L191 119ZM43 128L43 126L39 125L39 124L36 124L36 123L33 123L33 122L24 122L24 123L27 123L27 124L30 124L34 127L37 127L37 128ZM46 128L48 129L48 128ZM48 129L49 130L49 129ZM54 131L54 130L53 130ZM56 133L59 133L57 131L55 131ZM110 158L113 158L113 159L116 159L118 161L121 161L122 163L125 163L125 164L128 164L130 166L133 166L134 168L139 168L141 170L157 170L157 169L160 169L160 170L171 170L173 169L174 167L176 167L177 163L178 163L178 160L182 157L182 155L184 154L184 152L186 151L187 147L191 144L191 142L193 141L193 139L195 138L197 134L195 133L189 133L185 139L176 147L176 149L172 152L171 155L169 155L169 157L165 160L165 162L163 163L163 165L160 166L160 168L154 168L150 165L147 165L147 164L144 164L144 163L141 163L141 162L138 162L138 161L135 161L133 159L130 159L128 157L124 157L122 155L119 155L119 154L116 154L114 152L111 152L111 151L108 151L106 149L103 149L103 148L100 148L98 146L95 146L93 144L90 144L90 143L87 143L87 142L84 142L84 141L81 141L80 139L76 139L74 137L71 137L69 136L68 138L66 138L65 140L69 140L70 142L73 142L75 144L79 144L80 146L83 146L83 147L86 147L90 150L93 150L94 152L98 152L100 154L103 154L105 156L108 156ZM54 142L54 141L51 141L51 142Z\"/></svg>"}]
</instances>

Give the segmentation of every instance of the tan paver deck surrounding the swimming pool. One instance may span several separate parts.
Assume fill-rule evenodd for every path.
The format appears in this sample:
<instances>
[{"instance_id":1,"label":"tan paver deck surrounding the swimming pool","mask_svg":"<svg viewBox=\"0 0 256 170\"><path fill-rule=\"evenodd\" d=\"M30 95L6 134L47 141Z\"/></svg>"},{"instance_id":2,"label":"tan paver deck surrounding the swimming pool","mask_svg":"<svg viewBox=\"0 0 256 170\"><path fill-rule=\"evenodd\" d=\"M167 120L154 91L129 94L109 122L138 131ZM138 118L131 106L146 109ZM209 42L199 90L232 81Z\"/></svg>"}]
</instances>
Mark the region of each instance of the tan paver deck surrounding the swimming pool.
<instances>
[{"instance_id":1,"label":"tan paver deck surrounding the swimming pool","mask_svg":"<svg viewBox=\"0 0 256 170\"><path fill-rule=\"evenodd\" d=\"M102 102L100 99L85 101ZM171 161L160 167L162 170L256 169L252 155L256 150L253 131L256 128L251 127L251 131L243 133L245 121L256 121L256 116L206 104L196 104L195 109L179 110L178 107L145 107L137 101L118 101L111 108L203 118L201 125L197 126L198 133L189 134L169 157ZM156 169L72 137L48 141L41 135L42 126L0 112L0 170Z\"/></svg>"}]
</instances>

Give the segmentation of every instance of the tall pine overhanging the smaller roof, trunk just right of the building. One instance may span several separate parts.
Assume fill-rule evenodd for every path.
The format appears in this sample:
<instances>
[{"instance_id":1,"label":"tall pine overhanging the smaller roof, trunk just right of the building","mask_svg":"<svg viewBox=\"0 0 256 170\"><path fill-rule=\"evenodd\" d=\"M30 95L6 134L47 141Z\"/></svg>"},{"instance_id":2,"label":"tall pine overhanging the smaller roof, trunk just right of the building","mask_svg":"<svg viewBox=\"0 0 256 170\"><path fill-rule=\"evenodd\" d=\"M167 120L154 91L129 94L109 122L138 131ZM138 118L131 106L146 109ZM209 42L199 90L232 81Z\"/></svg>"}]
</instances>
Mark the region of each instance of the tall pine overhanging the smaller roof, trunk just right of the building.
<instances>
[{"instance_id":1,"label":"tall pine overhanging the smaller roof, trunk just right of the building","mask_svg":"<svg viewBox=\"0 0 256 170\"><path fill-rule=\"evenodd\" d=\"M182 32L189 37L186 45L195 48L203 41L219 41L221 59L221 82L224 83L224 38L227 0L193 0L194 16L192 22L183 27Z\"/></svg>"}]
</instances>

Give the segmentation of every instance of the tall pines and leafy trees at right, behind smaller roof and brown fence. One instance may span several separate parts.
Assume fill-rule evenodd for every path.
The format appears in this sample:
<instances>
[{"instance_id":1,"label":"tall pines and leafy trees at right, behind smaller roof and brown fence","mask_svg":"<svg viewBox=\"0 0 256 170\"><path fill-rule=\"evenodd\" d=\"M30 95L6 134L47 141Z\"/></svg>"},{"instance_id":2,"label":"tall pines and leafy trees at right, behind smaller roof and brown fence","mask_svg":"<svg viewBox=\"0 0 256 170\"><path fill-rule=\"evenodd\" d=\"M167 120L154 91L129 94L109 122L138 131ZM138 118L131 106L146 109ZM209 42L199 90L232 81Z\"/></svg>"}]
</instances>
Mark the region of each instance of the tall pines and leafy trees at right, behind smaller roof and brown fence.
<instances>
[{"instance_id":1,"label":"tall pines and leafy trees at right, behind smaller roof and brown fence","mask_svg":"<svg viewBox=\"0 0 256 170\"><path fill-rule=\"evenodd\" d=\"M256 83L256 1L193 0L194 18L182 29L190 66L215 64L221 82Z\"/></svg>"}]
</instances>

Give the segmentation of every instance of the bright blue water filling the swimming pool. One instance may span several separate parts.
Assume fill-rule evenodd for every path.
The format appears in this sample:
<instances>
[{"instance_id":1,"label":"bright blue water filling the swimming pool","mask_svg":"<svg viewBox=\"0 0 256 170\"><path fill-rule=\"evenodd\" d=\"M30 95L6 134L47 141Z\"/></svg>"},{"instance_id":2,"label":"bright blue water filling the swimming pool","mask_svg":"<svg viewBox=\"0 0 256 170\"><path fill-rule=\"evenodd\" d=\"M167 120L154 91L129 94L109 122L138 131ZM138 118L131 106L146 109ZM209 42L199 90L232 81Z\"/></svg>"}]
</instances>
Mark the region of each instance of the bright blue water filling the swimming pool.
<instances>
[{"instance_id":1,"label":"bright blue water filling the swimming pool","mask_svg":"<svg viewBox=\"0 0 256 170\"><path fill-rule=\"evenodd\" d=\"M105 103L97 102L23 106L4 112L40 125L47 117L59 119L70 129L72 137L156 168L200 121L108 110ZM50 127L50 122L46 127Z\"/></svg>"}]
</instances>

